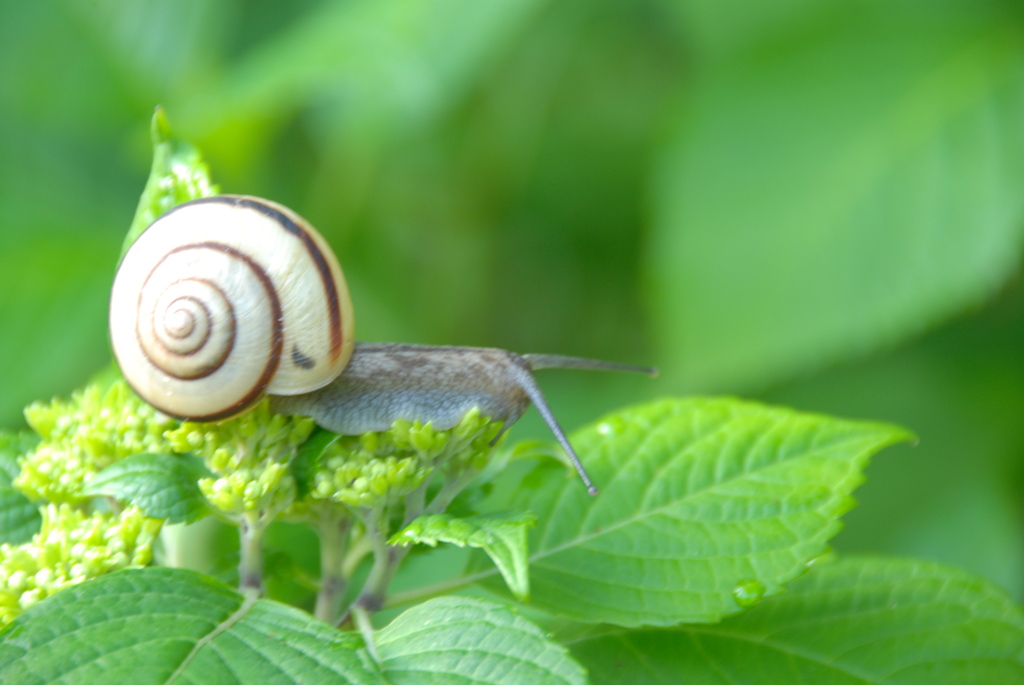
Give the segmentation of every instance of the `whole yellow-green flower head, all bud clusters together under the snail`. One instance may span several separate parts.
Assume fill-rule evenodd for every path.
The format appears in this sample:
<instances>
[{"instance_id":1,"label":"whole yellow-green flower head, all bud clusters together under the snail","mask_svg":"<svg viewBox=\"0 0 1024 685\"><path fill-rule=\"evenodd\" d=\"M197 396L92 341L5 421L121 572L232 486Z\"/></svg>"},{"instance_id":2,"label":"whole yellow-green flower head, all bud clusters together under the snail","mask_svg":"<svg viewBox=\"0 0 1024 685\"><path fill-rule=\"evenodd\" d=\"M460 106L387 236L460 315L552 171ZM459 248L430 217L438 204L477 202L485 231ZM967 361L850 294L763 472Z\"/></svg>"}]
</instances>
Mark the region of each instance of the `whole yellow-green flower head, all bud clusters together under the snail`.
<instances>
[{"instance_id":1,"label":"whole yellow-green flower head, all bud clusters together under the snail","mask_svg":"<svg viewBox=\"0 0 1024 685\"><path fill-rule=\"evenodd\" d=\"M386 518L390 505L425 488L433 474L443 475L444 487L457 490L485 466L502 434L501 422L476 410L447 430L396 421L379 433L328 434L328 445L318 453L310 448L302 471L293 462L314 423L275 414L269 400L219 423L178 422L119 379L93 383L69 400L35 403L26 417L39 442L8 436L0 447L11 476L16 460L13 484L39 502L42 523L30 542L0 546L0 628L65 587L150 562L163 521L135 506L120 514L95 513L96 502L85 494L99 472L126 457L202 458L212 476L199 480L200 490L224 518L257 531L250 532L251 542L274 518L309 520L317 508L340 506L364 523L374 511ZM24 456L15 457L18 453ZM296 502L298 472L308 485L301 502ZM258 545L255 549L258 557ZM258 575L258 561L250 559L249 570L254 568Z\"/></svg>"}]
</instances>

